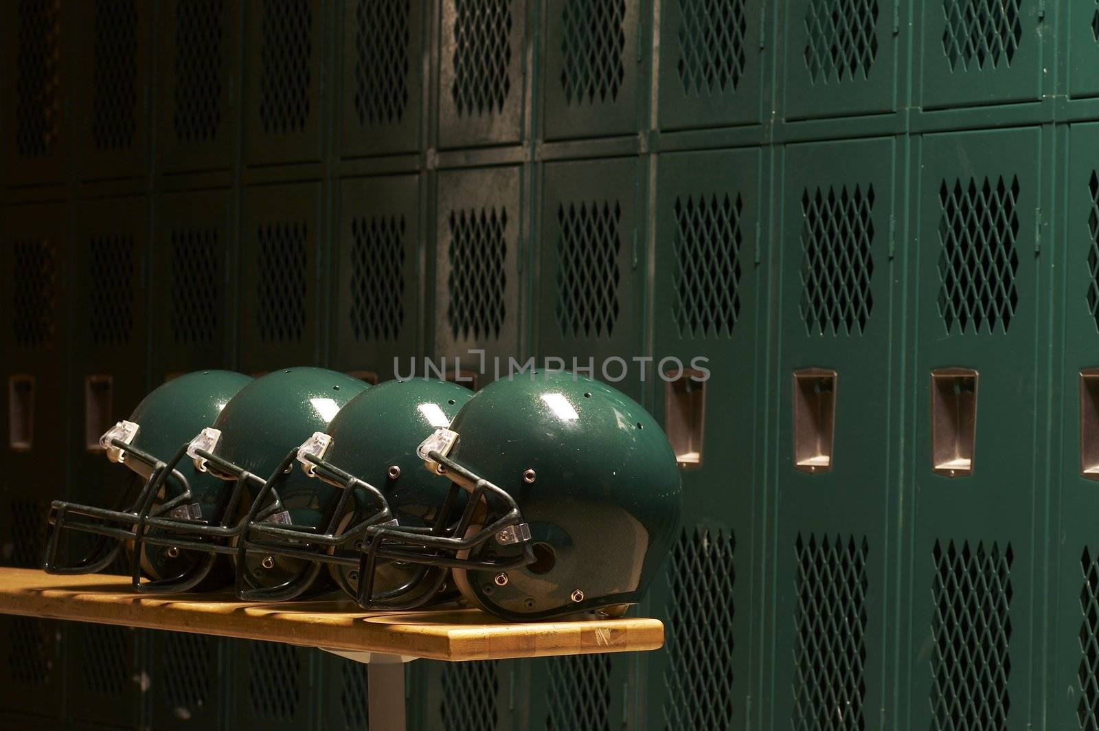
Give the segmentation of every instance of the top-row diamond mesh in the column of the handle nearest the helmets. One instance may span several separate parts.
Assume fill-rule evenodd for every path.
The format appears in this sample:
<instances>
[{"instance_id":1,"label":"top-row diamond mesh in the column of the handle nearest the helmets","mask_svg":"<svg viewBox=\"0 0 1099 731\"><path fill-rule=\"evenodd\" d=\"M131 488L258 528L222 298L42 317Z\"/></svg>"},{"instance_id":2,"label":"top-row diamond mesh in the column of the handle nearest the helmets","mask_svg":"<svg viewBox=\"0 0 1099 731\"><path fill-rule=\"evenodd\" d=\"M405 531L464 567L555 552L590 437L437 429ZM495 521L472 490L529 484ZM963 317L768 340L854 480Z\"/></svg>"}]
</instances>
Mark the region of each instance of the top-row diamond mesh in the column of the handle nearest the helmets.
<instances>
[{"instance_id":1,"label":"top-row diamond mesh in the column of the handle nearest the helmets","mask_svg":"<svg viewBox=\"0 0 1099 731\"><path fill-rule=\"evenodd\" d=\"M688 96L735 91L747 57L745 0L679 0L682 24L677 37L681 55L677 68Z\"/></svg>"}]
</instances>

